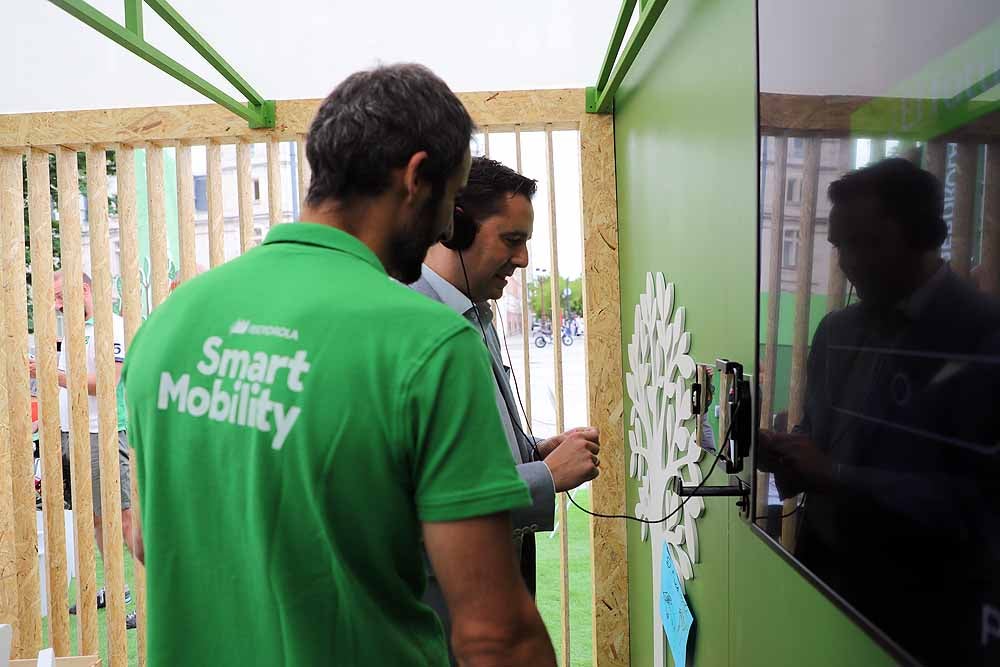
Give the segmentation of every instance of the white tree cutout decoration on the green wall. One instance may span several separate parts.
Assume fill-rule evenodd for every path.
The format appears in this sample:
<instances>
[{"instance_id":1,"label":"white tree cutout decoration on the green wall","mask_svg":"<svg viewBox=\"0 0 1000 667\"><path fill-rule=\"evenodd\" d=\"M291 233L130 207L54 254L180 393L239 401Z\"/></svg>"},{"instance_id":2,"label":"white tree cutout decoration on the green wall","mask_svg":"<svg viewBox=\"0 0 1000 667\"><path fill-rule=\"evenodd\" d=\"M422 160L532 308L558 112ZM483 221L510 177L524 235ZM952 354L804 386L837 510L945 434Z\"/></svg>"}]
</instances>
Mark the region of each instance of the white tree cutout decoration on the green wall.
<instances>
[{"instance_id":1,"label":"white tree cutout decoration on the green wall","mask_svg":"<svg viewBox=\"0 0 1000 667\"><path fill-rule=\"evenodd\" d=\"M673 321L671 321L673 316ZM646 274L646 291L635 307L635 330L628 345L629 369L625 385L632 411L629 414L629 476L639 480L639 502L635 515L661 519L674 512L682 499L668 489L672 477L684 484L702 480L695 446L685 422L691 419L691 392L687 381L695 374L691 334L684 330L684 307L674 312L674 285L662 273ZM642 539L652 535L653 552L653 658L664 665L664 635L660 620L660 563L664 545L670 551L681 585L694 577L698 562L696 521L705 510L700 497L692 497L684 509L662 523L642 524Z\"/></svg>"}]
</instances>

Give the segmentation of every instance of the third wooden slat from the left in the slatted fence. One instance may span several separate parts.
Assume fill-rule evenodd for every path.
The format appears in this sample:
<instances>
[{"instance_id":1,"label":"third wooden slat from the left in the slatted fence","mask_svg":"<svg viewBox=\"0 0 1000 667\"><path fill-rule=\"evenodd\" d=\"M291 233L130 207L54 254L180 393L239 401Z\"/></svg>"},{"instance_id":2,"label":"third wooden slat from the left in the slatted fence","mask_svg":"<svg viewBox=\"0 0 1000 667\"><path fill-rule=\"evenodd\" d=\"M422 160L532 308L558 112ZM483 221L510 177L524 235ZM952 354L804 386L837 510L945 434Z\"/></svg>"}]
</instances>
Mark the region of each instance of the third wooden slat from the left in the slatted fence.
<instances>
[{"instance_id":1,"label":"third wooden slat from the left in the slatted fence","mask_svg":"<svg viewBox=\"0 0 1000 667\"><path fill-rule=\"evenodd\" d=\"M90 463L90 405L83 283L80 195L76 151L57 154L59 177L59 236L62 251L63 349L70 407L70 482L73 523L77 536L77 617L81 651L97 650L97 573L94 558L94 496ZM50 597L50 599L52 599ZM61 596L60 598L61 601Z\"/></svg>"}]
</instances>

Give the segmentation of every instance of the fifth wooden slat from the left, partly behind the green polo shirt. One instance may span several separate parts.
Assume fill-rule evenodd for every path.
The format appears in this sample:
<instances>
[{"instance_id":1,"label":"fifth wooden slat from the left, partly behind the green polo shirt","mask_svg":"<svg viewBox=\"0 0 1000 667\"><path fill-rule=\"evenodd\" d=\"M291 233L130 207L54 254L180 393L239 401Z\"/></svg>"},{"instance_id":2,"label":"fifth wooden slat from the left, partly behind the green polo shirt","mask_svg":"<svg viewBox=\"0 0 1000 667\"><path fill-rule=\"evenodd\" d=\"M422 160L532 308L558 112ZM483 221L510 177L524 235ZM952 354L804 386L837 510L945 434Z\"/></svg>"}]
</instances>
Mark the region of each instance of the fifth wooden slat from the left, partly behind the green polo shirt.
<instances>
[{"instance_id":1,"label":"fifth wooden slat from the left, partly behind the green polo shirt","mask_svg":"<svg viewBox=\"0 0 1000 667\"><path fill-rule=\"evenodd\" d=\"M179 149L180 150L180 149ZM118 237L121 246L121 278L122 278L122 319L125 322L125 354L132 342L139 325L142 323L142 300L140 298L139 280L139 243L138 218L136 214L136 179L135 150L131 146L118 146L116 152L118 163ZM190 153L187 161L190 164ZM183 159L178 157L178 171ZM187 170L190 173L190 169ZM178 175L178 178L180 176ZM193 232L193 227L192 227ZM192 234L193 237L193 234ZM185 250L185 241L181 240L181 264L184 263L184 253L194 256L193 238ZM190 268L190 267L189 267ZM183 270L183 269L182 269ZM131 454L131 452L130 452ZM132 458L132 530L134 535L142 534L142 513L139 506L138 466ZM133 537L135 543L135 537ZM137 616L139 667L146 663L146 569L139 563L134 568L133 597ZM90 651L96 654L96 648Z\"/></svg>"}]
</instances>

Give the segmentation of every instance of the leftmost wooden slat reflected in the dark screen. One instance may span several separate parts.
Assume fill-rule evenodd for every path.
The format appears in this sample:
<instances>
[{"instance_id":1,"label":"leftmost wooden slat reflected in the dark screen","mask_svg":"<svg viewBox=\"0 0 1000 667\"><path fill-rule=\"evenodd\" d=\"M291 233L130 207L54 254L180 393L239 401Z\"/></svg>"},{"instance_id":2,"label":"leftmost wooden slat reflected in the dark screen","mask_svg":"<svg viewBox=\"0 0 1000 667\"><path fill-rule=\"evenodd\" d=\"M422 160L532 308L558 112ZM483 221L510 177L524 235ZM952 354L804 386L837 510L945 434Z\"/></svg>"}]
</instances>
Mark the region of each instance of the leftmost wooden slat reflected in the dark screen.
<instances>
[{"instance_id":1,"label":"leftmost wooden slat reflected in the dark screen","mask_svg":"<svg viewBox=\"0 0 1000 667\"><path fill-rule=\"evenodd\" d=\"M767 327L765 328L763 395L760 406L760 428L771 428L774 412L774 387L778 372L778 325L781 314L781 250L785 233L785 182L788 172L788 138L774 137L774 180L771 189L771 255L767 265ZM725 396L725 393L721 394ZM721 426L720 426L721 431ZM721 431L725 433L725 431ZM757 495L754 516L767 517L767 490L770 475L757 473Z\"/></svg>"}]
</instances>

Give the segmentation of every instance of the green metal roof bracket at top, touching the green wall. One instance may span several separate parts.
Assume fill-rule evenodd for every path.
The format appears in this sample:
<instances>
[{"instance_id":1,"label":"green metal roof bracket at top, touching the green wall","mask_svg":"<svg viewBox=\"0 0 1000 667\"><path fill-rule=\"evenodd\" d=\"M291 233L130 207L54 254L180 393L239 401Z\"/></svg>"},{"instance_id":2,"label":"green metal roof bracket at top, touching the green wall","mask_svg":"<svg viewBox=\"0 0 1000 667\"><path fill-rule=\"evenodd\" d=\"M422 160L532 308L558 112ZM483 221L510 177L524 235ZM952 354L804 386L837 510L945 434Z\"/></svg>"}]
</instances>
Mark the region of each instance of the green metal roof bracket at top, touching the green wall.
<instances>
[{"instance_id":1,"label":"green metal roof bracket at top, touching the green wall","mask_svg":"<svg viewBox=\"0 0 1000 667\"><path fill-rule=\"evenodd\" d=\"M587 89L588 113L611 113L614 108L615 93L618 92L629 68L636 56L639 55L639 51L642 50L642 45L646 43L646 38L653 30L653 26L656 25L660 14L663 13L664 7L667 6L667 1L641 0L639 2L639 21L636 23L635 30L632 31L632 36L629 37L625 49L621 50L625 31L628 30L628 24L632 19L632 12L636 5L636 0L622 0L615 30L611 35L608 51L597 76L597 85ZM619 51L621 51L620 57Z\"/></svg>"}]
</instances>

